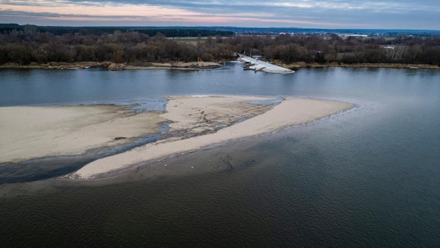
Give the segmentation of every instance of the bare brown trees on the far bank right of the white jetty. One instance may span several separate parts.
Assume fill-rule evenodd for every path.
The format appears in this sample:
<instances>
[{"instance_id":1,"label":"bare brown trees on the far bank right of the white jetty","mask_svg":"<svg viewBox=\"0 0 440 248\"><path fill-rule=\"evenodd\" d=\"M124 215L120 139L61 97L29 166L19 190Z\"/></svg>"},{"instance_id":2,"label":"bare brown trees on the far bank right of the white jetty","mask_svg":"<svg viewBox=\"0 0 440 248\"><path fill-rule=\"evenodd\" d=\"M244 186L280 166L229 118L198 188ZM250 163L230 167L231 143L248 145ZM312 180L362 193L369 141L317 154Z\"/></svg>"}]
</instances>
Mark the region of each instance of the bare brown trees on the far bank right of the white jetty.
<instances>
[{"instance_id":1,"label":"bare brown trees on the far bank right of the white jetty","mask_svg":"<svg viewBox=\"0 0 440 248\"><path fill-rule=\"evenodd\" d=\"M283 63L426 63L440 65L440 37L342 38L330 36L235 37L237 51Z\"/></svg>"}]
</instances>

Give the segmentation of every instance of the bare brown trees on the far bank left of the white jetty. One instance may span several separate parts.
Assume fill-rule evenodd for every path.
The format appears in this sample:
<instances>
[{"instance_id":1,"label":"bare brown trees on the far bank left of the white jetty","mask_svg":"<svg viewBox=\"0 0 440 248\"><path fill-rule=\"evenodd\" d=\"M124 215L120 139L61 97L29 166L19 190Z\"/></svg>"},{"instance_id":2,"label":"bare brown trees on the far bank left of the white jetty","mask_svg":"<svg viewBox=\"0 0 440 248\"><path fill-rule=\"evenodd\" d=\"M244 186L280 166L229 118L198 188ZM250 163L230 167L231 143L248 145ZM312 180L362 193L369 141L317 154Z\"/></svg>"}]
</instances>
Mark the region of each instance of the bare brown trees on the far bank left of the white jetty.
<instances>
[{"instance_id":1,"label":"bare brown trees on the far bank left of the white jetty","mask_svg":"<svg viewBox=\"0 0 440 248\"><path fill-rule=\"evenodd\" d=\"M0 34L0 64L32 62L113 61L117 63L163 61L214 61L230 58L234 48L213 38L196 43L176 42L162 32L153 37L140 32L109 34L62 34L36 30L13 30Z\"/></svg>"}]
</instances>

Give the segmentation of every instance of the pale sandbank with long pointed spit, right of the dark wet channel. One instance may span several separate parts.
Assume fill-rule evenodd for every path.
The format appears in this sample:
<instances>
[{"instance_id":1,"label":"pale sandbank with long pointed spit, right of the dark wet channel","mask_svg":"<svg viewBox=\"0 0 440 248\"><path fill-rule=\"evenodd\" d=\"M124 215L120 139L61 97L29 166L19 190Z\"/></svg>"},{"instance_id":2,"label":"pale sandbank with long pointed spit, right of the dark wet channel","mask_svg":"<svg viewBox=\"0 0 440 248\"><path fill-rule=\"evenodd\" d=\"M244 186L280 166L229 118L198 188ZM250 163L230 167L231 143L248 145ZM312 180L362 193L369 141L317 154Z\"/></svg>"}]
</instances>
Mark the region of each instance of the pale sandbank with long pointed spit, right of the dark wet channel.
<instances>
[{"instance_id":1,"label":"pale sandbank with long pointed spit, right of the dark wet channel","mask_svg":"<svg viewBox=\"0 0 440 248\"><path fill-rule=\"evenodd\" d=\"M227 111L228 107L220 107L217 111L212 109L223 104L228 105L228 103L254 101L253 99L254 98L242 96L173 98L166 106L168 113L164 114L164 117L170 118L173 121L179 121L178 123L173 124L173 128L203 132L203 128L205 127L201 128L202 131L198 129L199 123L205 121L203 116L201 117L202 119L199 119L200 115L196 118L193 116L200 112L199 110L205 110L205 112L208 112L209 114L220 114L223 111ZM255 100L262 99L256 98ZM236 123L230 127L223 128L217 132L177 141L175 139L170 139L168 141L150 143L132 149L129 152L109 156L89 163L73 175L78 178L94 178L99 174L123 169L144 161L151 161L172 154L180 154L182 152L190 152L192 150L201 149L225 141L265 134L290 125L309 123L318 118L349 110L354 106L355 105L351 103L342 103L338 101L287 99L263 114L241 123ZM234 114L228 114L228 116L230 115L234 116ZM222 116L224 120L224 113ZM209 129L209 127L207 128ZM204 130L206 130L206 128Z\"/></svg>"}]
</instances>

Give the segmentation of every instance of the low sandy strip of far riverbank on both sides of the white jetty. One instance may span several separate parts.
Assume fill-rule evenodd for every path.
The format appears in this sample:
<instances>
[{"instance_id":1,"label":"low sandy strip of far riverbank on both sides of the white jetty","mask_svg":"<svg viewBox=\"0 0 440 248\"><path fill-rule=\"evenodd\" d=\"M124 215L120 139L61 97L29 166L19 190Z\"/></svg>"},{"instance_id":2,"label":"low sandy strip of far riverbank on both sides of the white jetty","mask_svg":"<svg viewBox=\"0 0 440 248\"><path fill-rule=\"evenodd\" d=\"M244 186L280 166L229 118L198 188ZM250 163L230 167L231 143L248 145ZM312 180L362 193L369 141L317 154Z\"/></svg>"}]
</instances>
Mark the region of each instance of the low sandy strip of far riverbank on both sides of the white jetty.
<instances>
[{"instance_id":1,"label":"low sandy strip of far riverbank on both sides of the white jetty","mask_svg":"<svg viewBox=\"0 0 440 248\"><path fill-rule=\"evenodd\" d=\"M118 65L118 70L203 70L209 68L217 68L225 61L216 62L168 62L168 63L144 63L139 65L137 63L113 63L110 61L104 62L50 62L50 63L30 63L29 65L19 65L17 63L6 63L0 65L0 69L54 69L54 70L75 70L85 69L89 67L104 67ZM403 68L403 69L440 69L439 65L428 64L406 64L406 63L305 63L295 62L291 64L278 63L274 61L274 65L279 65L283 68L296 70L298 68Z\"/></svg>"}]
</instances>

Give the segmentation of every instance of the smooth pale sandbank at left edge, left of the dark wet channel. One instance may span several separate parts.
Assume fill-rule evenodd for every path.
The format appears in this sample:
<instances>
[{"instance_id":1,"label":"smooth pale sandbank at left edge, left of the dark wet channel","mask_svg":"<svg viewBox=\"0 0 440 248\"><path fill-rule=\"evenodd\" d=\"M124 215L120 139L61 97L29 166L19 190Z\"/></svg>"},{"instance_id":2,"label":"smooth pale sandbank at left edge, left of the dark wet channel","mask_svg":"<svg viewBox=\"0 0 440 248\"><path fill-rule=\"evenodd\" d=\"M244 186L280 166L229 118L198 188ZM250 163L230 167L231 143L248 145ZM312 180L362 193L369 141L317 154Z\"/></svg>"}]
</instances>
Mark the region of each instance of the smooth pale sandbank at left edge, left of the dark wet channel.
<instances>
[{"instance_id":1,"label":"smooth pale sandbank at left edge, left of the dark wet channel","mask_svg":"<svg viewBox=\"0 0 440 248\"><path fill-rule=\"evenodd\" d=\"M113 105L0 107L0 163L83 154L157 132L158 113L135 114Z\"/></svg>"}]
</instances>

